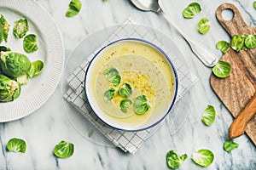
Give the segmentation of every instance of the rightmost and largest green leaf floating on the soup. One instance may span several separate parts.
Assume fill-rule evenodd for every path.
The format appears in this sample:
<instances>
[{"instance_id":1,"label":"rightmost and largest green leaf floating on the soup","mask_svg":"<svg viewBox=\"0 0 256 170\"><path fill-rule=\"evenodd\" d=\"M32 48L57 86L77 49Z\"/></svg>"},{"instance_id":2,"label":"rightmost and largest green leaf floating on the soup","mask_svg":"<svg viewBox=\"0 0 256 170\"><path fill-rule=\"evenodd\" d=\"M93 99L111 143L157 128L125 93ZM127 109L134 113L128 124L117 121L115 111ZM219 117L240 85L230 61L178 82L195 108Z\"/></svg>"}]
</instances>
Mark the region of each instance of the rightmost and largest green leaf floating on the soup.
<instances>
[{"instance_id":1,"label":"rightmost and largest green leaf floating on the soup","mask_svg":"<svg viewBox=\"0 0 256 170\"><path fill-rule=\"evenodd\" d=\"M150 105L145 95L140 95L134 99L134 111L138 115L145 114L149 109L150 109Z\"/></svg>"}]
</instances>

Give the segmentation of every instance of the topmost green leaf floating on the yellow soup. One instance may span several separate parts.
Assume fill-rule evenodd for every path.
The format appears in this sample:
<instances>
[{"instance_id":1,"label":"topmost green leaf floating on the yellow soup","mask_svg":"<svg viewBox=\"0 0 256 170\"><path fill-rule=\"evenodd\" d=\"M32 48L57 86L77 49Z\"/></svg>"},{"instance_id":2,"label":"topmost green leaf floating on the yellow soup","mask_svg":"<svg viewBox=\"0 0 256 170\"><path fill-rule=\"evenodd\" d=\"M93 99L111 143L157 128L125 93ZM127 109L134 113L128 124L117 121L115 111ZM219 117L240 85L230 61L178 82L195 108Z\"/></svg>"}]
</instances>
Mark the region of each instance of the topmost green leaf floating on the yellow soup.
<instances>
[{"instance_id":1,"label":"topmost green leaf floating on the yellow soup","mask_svg":"<svg viewBox=\"0 0 256 170\"><path fill-rule=\"evenodd\" d=\"M121 76L119 75L119 71L116 68L109 68L103 71L103 74L107 76L108 82L110 82L113 86L119 85L121 82Z\"/></svg>"}]
</instances>

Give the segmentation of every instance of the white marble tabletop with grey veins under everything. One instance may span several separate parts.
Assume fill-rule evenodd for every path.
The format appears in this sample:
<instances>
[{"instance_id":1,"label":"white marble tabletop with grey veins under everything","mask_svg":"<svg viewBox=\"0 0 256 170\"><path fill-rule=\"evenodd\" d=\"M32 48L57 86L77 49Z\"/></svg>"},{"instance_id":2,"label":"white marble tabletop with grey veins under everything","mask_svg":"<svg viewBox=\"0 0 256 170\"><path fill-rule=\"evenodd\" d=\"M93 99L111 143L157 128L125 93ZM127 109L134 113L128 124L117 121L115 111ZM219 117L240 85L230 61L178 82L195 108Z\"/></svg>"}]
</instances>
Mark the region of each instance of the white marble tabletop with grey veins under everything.
<instances>
[{"instance_id":1,"label":"white marble tabletop with grey veins under everything","mask_svg":"<svg viewBox=\"0 0 256 170\"><path fill-rule=\"evenodd\" d=\"M170 133L166 126L168 123L164 122L159 130L147 139L134 155L131 155L104 141L104 137L99 133L94 132L92 139L88 139L73 127L63 108L60 83L55 93L38 111L14 122L0 123L2 146L0 169L168 169L166 166L168 150L176 150L178 154L188 154L188 159L183 162L180 169L256 169L256 148L247 135L235 139L239 144L236 150L230 153L223 150L233 117L210 87L211 69L196 58L188 44L166 20L152 12L137 10L128 0L108 0L108 3L103 3L102 0L82 0L83 7L79 15L67 18L65 14L69 2L69 0L38 0L60 28L66 57L78 42L88 35L105 27L121 24L128 18L152 26L171 37L183 52L189 63L189 69L199 78L184 96L191 99L191 105L188 108L179 108L189 111L189 116L177 133ZM205 44L218 58L222 54L215 48L216 42L230 40L215 17L215 11L221 3L234 3L247 25L256 26L253 0L197 0L196 2L201 3L201 13L193 20L185 20L182 16L183 8L192 1L160 0L162 8L173 22L191 39ZM206 35L199 34L196 28L197 22L202 17L207 17L211 22L211 30ZM217 118L210 127L206 127L201 122L202 112L207 105L213 105L221 117ZM6 150L8 140L14 137L26 140L25 154ZM53 156L52 150L61 140L75 144L72 157L58 159ZM191 160L192 153L202 148L212 150L215 155L210 167L200 167Z\"/></svg>"}]
</instances>

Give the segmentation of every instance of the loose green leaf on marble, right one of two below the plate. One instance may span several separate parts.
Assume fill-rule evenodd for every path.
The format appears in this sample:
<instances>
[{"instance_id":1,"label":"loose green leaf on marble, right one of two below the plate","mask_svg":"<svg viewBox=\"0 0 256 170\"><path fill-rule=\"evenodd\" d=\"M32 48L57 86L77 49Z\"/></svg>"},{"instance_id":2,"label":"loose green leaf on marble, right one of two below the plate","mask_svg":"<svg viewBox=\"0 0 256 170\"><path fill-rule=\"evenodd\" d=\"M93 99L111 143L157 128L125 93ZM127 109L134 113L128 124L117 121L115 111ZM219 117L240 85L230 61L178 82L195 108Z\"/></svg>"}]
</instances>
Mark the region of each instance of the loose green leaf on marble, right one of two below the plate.
<instances>
[{"instance_id":1,"label":"loose green leaf on marble, right one of two below the plate","mask_svg":"<svg viewBox=\"0 0 256 170\"><path fill-rule=\"evenodd\" d=\"M66 141L61 141L55 145L54 154L57 157L68 158L73 156L74 145Z\"/></svg>"}]
</instances>

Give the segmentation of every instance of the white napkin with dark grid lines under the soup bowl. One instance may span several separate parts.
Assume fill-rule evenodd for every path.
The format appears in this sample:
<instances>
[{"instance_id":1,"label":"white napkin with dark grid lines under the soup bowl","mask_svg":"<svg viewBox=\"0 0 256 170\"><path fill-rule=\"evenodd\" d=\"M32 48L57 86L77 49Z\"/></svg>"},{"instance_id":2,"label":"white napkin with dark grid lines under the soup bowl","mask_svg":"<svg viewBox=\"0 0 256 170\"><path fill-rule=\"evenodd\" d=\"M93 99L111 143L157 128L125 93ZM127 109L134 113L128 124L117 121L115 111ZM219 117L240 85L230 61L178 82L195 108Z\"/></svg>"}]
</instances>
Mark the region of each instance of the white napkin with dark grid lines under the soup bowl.
<instances>
[{"instance_id":1,"label":"white napkin with dark grid lines under the soup bowl","mask_svg":"<svg viewBox=\"0 0 256 170\"><path fill-rule=\"evenodd\" d=\"M187 91L189 91L189 88L192 87L197 81L197 77L191 74L187 68L183 66L183 63L177 59L177 56L169 55L167 48L164 47L164 45L161 44L157 39L155 39L154 35L148 35L147 30L145 30L143 26L137 25L137 23L131 19L125 21L123 25L119 26L119 28L110 37L108 37L108 40L102 43L100 48L106 46L109 42L127 37L143 38L146 40L147 37L150 37L151 39L154 39L155 45L166 51L166 54L170 57L170 59L172 59L172 62L177 69L179 79L177 100L180 99ZM95 53L90 54L90 56L88 56L83 63L78 65L77 69L75 69L75 71L73 71L73 73L67 77L67 84L70 88L67 89L67 92L63 95L63 97L64 99L67 99L71 105L73 105L85 118L87 118L114 145L118 146L125 152L129 151L131 154L134 154L143 144L143 141L154 133L160 125L138 132L120 131L113 129L112 127L108 127L108 125L101 122L101 120L99 120L90 110L90 106L88 105L84 94L84 75L90 59L92 59L100 48L98 48Z\"/></svg>"}]
</instances>

